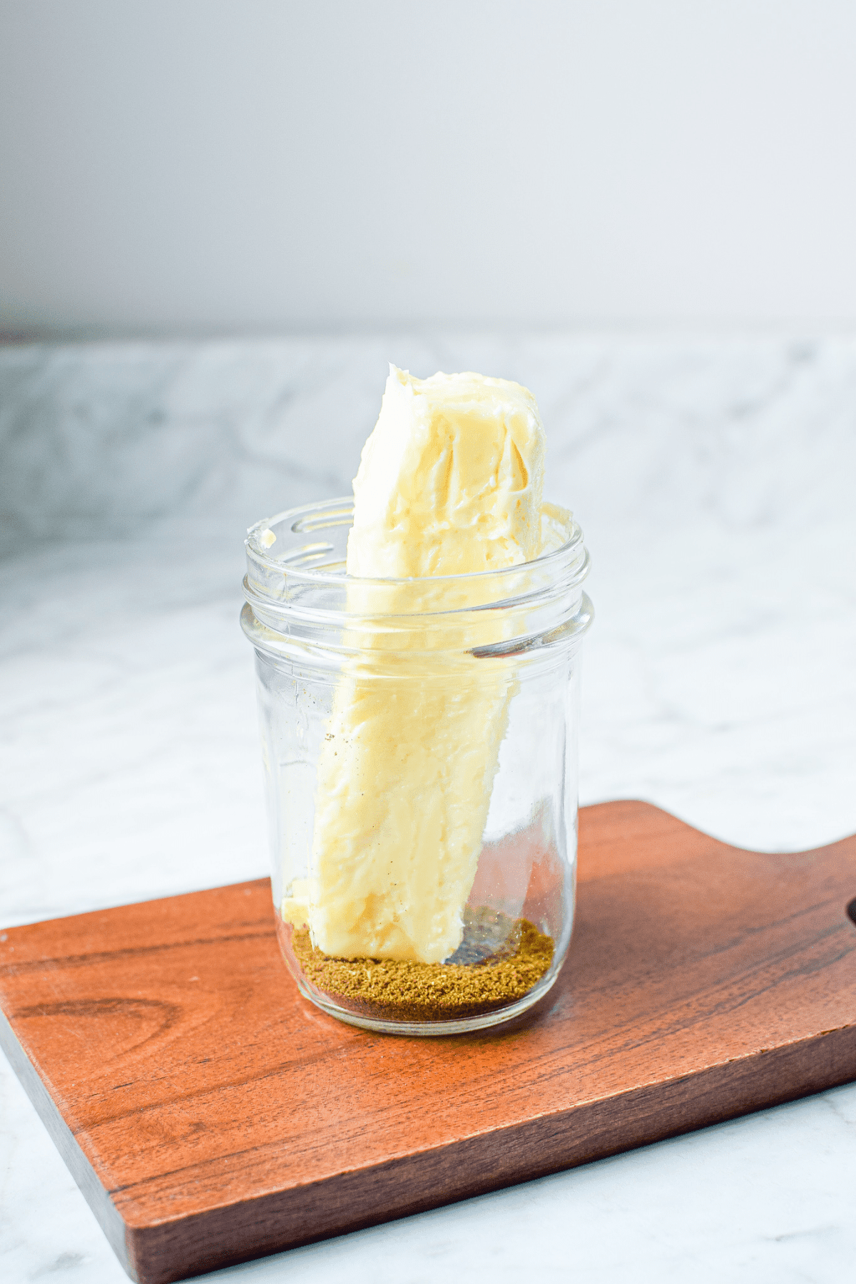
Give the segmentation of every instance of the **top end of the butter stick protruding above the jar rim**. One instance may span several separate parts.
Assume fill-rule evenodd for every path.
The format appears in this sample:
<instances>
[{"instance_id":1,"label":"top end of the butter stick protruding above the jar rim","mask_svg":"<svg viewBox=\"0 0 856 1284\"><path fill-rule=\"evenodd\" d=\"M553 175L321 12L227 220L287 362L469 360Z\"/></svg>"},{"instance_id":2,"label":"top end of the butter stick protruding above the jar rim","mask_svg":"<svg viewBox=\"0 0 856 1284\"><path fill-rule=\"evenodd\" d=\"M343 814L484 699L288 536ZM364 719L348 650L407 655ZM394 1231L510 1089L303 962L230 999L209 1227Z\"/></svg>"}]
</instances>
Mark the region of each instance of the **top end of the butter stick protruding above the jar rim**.
<instances>
[{"instance_id":1,"label":"top end of the butter stick protruding above the jar rim","mask_svg":"<svg viewBox=\"0 0 856 1284\"><path fill-rule=\"evenodd\" d=\"M544 430L520 384L390 369L354 478L348 573L459 575L531 561Z\"/></svg>"}]
</instances>

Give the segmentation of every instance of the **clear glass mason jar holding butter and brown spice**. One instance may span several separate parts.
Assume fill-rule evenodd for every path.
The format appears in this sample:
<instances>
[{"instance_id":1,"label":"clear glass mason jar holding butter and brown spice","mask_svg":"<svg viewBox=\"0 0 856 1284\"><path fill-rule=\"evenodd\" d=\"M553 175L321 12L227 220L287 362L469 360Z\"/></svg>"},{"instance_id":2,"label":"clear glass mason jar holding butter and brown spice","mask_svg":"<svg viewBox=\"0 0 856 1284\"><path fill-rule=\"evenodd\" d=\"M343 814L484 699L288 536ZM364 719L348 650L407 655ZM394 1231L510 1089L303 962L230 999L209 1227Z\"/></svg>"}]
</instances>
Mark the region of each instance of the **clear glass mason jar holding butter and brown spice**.
<instances>
[{"instance_id":1,"label":"clear glass mason jar holding butter and brown spice","mask_svg":"<svg viewBox=\"0 0 856 1284\"><path fill-rule=\"evenodd\" d=\"M498 1026L571 937L583 532L545 506L531 562L372 580L345 574L352 516L307 505L246 539L280 948L352 1025Z\"/></svg>"}]
</instances>

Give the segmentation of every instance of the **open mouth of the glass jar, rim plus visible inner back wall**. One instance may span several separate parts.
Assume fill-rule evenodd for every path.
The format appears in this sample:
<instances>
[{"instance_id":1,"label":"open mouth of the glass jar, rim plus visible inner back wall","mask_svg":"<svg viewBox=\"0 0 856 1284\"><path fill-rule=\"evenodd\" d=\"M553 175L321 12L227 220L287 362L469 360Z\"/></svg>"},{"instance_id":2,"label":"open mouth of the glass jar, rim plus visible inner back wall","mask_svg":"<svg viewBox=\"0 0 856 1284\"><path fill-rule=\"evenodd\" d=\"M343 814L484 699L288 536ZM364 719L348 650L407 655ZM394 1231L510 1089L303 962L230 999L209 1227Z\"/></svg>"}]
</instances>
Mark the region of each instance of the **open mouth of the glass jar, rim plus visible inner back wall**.
<instances>
[{"instance_id":1,"label":"open mouth of the glass jar, rim plus visible inner back wall","mask_svg":"<svg viewBox=\"0 0 856 1284\"><path fill-rule=\"evenodd\" d=\"M467 596L466 586L472 583L479 586L474 598L483 602L488 582L497 588L495 600L512 598L517 596L516 584L521 575L536 573L539 579L561 579L566 587L571 587L571 582L581 583L589 569L581 526L566 508L545 503L542 530L547 547L531 561L457 575L411 575L399 579L349 575L345 570L345 553L353 515L353 497L344 496L263 517L249 528L244 541L250 571L258 568L262 582L267 582L273 574L287 577L295 584L318 588L341 588L343 584L349 584L354 588L389 591L394 587L417 589L431 584L441 589L443 586L449 586L461 589L462 598ZM250 582L254 580L255 577L250 574ZM493 597L493 593L489 596ZM280 594L275 593L275 597Z\"/></svg>"}]
</instances>

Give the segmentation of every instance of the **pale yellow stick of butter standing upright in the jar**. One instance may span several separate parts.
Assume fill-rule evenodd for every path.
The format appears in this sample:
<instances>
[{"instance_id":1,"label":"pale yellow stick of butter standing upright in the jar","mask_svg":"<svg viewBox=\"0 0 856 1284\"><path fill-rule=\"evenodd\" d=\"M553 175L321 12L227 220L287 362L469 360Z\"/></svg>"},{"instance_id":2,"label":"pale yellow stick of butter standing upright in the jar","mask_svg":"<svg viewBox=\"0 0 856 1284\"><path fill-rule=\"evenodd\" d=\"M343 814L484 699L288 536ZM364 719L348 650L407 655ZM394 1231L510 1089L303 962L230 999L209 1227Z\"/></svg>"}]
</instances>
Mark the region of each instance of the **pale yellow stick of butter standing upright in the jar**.
<instances>
[{"instance_id":1,"label":"pale yellow stick of butter standing upright in the jar","mask_svg":"<svg viewBox=\"0 0 856 1284\"><path fill-rule=\"evenodd\" d=\"M450 577L530 561L542 546L543 475L544 430L525 388L390 367L354 479L349 575ZM391 589L394 612L406 586ZM427 591L431 612L467 605L461 582ZM362 593L349 588L349 610ZM507 665L468 654L466 636L454 655L438 651L426 679L430 629L426 618L395 639L391 672L349 664L335 692L311 872L282 903L284 919L308 923L332 957L439 963L462 940L515 681Z\"/></svg>"}]
</instances>

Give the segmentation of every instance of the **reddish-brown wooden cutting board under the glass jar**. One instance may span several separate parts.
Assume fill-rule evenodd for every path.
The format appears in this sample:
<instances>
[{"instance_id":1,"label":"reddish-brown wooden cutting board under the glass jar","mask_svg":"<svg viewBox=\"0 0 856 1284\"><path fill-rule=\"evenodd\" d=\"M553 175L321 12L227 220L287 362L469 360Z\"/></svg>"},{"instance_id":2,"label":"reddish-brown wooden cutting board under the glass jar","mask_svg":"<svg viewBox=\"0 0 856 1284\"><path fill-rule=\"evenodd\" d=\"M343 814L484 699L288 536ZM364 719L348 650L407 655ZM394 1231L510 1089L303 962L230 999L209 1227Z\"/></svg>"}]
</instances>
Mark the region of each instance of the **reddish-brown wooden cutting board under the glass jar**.
<instances>
[{"instance_id":1,"label":"reddish-brown wooden cutting board under the glass jar","mask_svg":"<svg viewBox=\"0 0 856 1284\"><path fill-rule=\"evenodd\" d=\"M579 876L562 975L504 1035L326 1017L281 962L267 880L0 932L3 1045L131 1276L856 1079L856 836L761 855L608 802L580 814Z\"/></svg>"}]
</instances>

